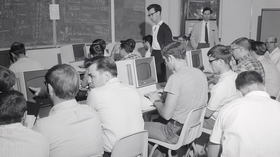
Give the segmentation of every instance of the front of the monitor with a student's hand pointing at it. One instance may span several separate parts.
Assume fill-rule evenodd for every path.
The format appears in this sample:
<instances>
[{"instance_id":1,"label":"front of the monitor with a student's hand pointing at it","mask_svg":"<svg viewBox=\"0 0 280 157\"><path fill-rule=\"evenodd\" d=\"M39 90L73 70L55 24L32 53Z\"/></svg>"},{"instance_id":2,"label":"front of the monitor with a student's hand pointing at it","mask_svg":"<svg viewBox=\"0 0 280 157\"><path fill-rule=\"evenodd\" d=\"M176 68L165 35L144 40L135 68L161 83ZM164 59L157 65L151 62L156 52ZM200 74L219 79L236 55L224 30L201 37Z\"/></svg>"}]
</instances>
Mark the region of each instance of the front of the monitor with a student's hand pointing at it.
<instances>
[{"instance_id":1,"label":"front of the monitor with a student's hand pointing at it","mask_svg":"<svg viewBox=\"0 0 280 157\"><path fill-rule=\"evenodd\" d=\"M47 71L48 71L48 69L23 72L24 84L25 84L24 90L26 92L27 101L38 103L41 106L50 105L50 99L47 96L40 97L40 98L35 97L34 91L32 91L28 88L28 87L46 88L44 81L46 81L45 74L47 73Z\"/></svg>"}]
</instances>

